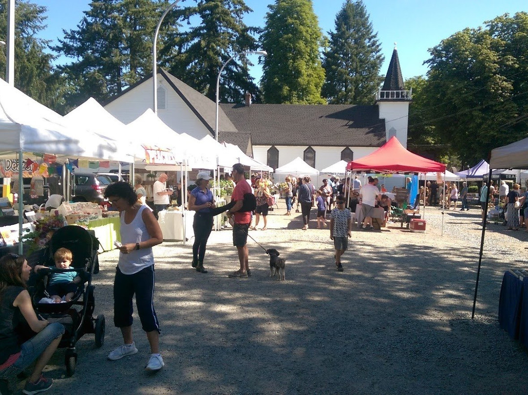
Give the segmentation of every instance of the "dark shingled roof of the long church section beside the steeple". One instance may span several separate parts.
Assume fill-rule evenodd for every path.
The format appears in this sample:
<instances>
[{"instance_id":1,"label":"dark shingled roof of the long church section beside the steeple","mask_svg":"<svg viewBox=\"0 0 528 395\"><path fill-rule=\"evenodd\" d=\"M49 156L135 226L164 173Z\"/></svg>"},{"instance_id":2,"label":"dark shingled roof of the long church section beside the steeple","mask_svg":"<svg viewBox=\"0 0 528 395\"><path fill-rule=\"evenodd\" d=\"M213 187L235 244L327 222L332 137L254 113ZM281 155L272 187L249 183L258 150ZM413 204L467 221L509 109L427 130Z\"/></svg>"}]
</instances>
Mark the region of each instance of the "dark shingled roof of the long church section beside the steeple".
<instances>
[{"instance_id":1,"label":"dark shingled roof of the long church section beside the steeple","mask_svg":"<svg viewBox=\"0 0 528 395\"><path fill-rule=\"evenodd\" d=\"M378 106L221 104L239 132L253 145L380 147L385 123ZM243 149L243 148L242 148Z\"/></svg>"}]
</instances>

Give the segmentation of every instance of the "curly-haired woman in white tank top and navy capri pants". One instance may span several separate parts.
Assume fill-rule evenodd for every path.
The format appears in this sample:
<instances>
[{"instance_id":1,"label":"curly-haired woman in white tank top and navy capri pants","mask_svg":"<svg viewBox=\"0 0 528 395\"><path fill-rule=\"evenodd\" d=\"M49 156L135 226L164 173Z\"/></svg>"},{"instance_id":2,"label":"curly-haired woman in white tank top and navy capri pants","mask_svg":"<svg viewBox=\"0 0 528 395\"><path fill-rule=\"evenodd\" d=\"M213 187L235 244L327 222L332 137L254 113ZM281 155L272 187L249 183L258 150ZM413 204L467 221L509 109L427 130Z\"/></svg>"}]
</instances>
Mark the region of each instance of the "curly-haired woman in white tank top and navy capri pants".
<instances>
[{"instance_id":1,"label":"curly-haired woman in white tank top and navy capri pants","mask_svg":"<svg viewBox=\"0 0 528 395\"><path fill-rule=\"evenodd\" d=\"M159 323L154 309L154 256L152 247L163 242L163 234L152 211L137 202L133 187L120 181L107 186L105 198L119 210L121 247L114 279L114 323L120 328L124 345L108 354L109 360L137 353L132 336L132 298L143 330L150 344L150 359L146 370L163 368L159 354Z\"/></svg>"}]
</instances>

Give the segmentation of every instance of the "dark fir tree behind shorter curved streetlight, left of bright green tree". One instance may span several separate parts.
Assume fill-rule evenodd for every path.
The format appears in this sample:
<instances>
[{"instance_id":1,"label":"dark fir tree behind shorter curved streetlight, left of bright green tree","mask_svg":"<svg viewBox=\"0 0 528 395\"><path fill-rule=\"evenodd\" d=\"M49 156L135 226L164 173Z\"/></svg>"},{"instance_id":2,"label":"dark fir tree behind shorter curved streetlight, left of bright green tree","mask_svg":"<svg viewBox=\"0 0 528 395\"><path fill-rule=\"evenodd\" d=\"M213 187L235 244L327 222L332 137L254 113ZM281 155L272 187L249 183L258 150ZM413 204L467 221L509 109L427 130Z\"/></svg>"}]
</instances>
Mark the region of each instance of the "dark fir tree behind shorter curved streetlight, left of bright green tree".
<instances>
[{"instance_id":1,"label":"dark fir tree behind shorter curved streetlight, left of bright green tree","mask_svg":"<svg viewBox=\"0 0 528 395\"><path fill-rule=\"evenodd\" d=\"M216 97L216 79L222 64L232 55L258 49L252 36L256 27L243 23L251 12L243 0L198 0L182 14L200 23L173 34L161 55L164 63L177 78L202 92L211 100ZM259 88L249 74L251 63L246 55L231 60L222 71L220 101L241 102L244 91L258 97Z\"/></svg>"}]
</instances>

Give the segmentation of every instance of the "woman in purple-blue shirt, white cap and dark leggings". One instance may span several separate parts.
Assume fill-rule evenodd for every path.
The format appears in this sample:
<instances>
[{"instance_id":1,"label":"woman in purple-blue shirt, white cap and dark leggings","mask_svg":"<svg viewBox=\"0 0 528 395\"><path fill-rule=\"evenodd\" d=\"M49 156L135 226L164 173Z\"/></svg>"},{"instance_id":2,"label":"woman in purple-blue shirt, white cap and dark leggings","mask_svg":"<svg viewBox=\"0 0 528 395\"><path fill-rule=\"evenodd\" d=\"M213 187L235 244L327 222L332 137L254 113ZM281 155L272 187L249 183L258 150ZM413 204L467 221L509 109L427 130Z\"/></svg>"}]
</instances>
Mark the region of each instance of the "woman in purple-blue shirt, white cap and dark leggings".
<instances>
[{"instance_id":1,"label":"woman in purple-blue shirt, white cap and dark leggings","mask_svg":"<svg viewBox=\"0 0 528 395\"><path fill-rule=\"evenodd\" d=\"M189 210L194 210L193 230L193 261L191 266L196 271L206 273L203 267L203 258L205 256L205 246L213 229L213 213L211 208L214 207L213 193L208 188L211 175L208 172L198 173L196 176L196 187L191 191L189 197Z\"/></svg>"}]
</instances>

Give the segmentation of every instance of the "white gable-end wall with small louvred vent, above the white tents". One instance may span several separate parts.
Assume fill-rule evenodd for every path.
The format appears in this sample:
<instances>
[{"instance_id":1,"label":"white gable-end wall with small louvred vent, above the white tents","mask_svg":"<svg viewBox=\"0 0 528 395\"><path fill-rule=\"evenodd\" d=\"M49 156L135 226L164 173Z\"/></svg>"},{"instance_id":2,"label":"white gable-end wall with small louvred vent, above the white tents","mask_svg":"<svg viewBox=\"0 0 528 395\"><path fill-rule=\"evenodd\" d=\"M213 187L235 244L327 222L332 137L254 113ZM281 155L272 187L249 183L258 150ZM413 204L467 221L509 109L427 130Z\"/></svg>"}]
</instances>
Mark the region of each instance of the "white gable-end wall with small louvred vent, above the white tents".
<instances>
[{"instance_id":1,"label":"white gable-end wall with small louvred vent, above the white tents","mask_svg":"<svg viewBox=\"0 0 528 395\"><path fill-rule=\"evenodd\" d=\"M166 108L158 110L159 119L177 133L187 133L198 139L206 135L211 136L210 131L202 121L196 117L161 74L158 74L158 84L162 84L166 89ZM128 124L142 115L148 108L152 108L152 104L152 78L150 78L112 101L105 108L122 123Z\"/></svg>"}]
</instances>

